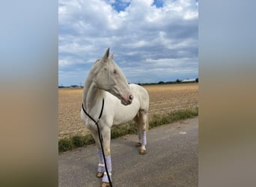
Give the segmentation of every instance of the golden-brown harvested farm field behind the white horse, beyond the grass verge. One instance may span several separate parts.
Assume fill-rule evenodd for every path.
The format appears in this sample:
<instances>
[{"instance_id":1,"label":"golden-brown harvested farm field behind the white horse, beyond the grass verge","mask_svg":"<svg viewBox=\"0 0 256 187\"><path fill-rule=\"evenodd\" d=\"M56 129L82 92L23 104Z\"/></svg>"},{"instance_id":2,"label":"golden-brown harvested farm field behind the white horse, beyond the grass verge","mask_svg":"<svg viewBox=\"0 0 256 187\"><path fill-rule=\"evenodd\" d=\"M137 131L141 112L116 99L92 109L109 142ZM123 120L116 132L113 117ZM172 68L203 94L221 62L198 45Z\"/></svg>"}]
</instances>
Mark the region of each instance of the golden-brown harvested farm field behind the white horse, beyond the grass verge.
<instances>
[{"instance_id":1,"label":"golden-brown harvested farm field behind the white horse, beyond the grass verge","mask_svg":"<svg viewBox=\"0 0 256 187\"><path fill-rule=\"evenodd\" d=\"M198 107L198 84L146 85L150 95L149 119L154 114L166 114L179 109ZM80 120L82 88L58 89L58 138L87 135Z\"/></svg>"}]
</instances>

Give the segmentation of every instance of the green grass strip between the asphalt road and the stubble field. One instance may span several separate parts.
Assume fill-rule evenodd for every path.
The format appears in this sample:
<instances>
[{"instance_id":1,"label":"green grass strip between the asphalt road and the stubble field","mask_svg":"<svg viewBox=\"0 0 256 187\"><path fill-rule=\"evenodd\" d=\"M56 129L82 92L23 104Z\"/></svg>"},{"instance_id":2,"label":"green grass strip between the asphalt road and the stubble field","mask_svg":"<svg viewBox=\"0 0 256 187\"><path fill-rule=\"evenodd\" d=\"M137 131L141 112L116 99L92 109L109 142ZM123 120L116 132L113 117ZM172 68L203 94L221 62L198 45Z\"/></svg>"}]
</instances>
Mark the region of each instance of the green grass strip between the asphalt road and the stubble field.
<instances>
[{"instance_id":1,"label":"green grass strip between the asphalt road and the stubble field","mask_svg":"<svg viewBox=\"0 0 256 187\"><path fill-rule=\"evenodd\" d=\"M198 116L198 108L171 111L170 113L164 115L155 114L149 121L149 129L196 116ZM111 131L111 137L114 139L124 135L136 133L136 124L134 122L129 122L118 127L113 127ZM78 147L88 146L94 143L94 138L91 135L74 135L70 138L61 138L58 141L58 153L65 152L67 150L73 150Z\"/></svg>"}]
</instances>

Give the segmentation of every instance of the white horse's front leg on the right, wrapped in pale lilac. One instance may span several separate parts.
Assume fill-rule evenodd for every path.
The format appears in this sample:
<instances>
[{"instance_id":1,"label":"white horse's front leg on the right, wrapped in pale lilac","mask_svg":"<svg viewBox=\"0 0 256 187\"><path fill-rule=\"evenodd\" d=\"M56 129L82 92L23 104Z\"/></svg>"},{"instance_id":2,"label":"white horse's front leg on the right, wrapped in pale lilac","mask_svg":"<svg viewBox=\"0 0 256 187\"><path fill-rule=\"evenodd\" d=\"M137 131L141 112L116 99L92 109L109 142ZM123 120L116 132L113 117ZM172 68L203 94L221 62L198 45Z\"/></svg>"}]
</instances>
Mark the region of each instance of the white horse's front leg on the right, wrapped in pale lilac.
<instances>
[{"instance_id":1,"label":"white horse's front leg on the right, wrapped in pale lilac","mask_svg":"<svg viewBox=\"0 0 256 187\"><path fill-rule=\"evenodd\" d=\"M103 136L103 147L104 147L104 153L105 153L105 158L106 158L106 168L109 171L109 177L110 180L112 176L112 162L111 162L111 155L110 155L110 140L111 140L111 129L109 126L105 126L101 132ZM109 178L106 174L106 171L103 174L103 180L101 183L101 187L107 187L109 185Z\"/></svg>"}]
</instances>

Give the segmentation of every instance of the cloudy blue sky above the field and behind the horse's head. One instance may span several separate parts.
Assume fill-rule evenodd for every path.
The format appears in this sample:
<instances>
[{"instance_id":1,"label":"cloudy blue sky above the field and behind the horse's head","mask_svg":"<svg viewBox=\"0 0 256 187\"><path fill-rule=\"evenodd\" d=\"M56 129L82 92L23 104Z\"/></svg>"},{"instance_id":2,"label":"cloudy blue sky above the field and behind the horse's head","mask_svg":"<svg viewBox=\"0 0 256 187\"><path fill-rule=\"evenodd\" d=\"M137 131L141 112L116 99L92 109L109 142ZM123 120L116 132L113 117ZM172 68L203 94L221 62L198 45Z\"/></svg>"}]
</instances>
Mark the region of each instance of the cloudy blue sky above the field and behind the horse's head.
<instances>
[{"instance_id":1,"label":"cloudy blue sky above the field and behind the horse's head","mask_svg":"<svg viewBox=\"0 0 256 187\"><path fill-rule=\"evenodd\" d=\"M58 85L108 48L129 83L198 78L198 0L59 0L58 22Z\"/></svg>"}]
</instances>

